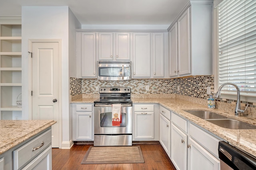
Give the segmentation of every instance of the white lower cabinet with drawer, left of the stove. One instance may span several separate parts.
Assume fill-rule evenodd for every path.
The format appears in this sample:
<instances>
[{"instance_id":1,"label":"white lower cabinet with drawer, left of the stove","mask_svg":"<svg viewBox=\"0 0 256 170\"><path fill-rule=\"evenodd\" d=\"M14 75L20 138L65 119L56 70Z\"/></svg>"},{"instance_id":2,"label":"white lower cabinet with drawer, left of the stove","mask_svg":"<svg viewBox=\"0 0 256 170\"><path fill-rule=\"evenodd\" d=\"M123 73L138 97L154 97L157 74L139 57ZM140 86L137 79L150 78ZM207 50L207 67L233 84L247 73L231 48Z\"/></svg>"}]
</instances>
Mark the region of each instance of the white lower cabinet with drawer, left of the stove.
<instances>
[{"instance_id":1,"label":"white lower cabinet with drawer, left of the stove","mask_svg":"<svg viewBox=\"0 0 256 170\"><path fill-rule=\"evenodd\" d=\"M93 140L93 104L73 104L73 141Z\"/></svg>"}]
</instances>

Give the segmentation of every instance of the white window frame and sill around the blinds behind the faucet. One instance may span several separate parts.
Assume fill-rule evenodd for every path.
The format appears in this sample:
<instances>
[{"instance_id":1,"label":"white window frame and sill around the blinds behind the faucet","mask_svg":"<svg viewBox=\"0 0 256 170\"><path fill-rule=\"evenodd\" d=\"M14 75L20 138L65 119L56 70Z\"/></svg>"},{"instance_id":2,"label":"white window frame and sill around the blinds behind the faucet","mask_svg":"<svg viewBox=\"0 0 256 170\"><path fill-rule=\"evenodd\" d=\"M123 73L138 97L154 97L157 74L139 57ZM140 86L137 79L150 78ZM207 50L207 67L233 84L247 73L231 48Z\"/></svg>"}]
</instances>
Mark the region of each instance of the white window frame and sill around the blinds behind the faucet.
<instances>
[{"instance_id":1,"label":"white window frame and sill around the blinds behind the faucet","mask_svg":"<svg viewBox=\"0 0 256 170\"><path fill-rule=\"evenodd\" d=\"M215 0L214 5L212 6L212 13L213 13L213 72L214 72L214 93L218 91L219 88L219 83L218 83L218 4L220 4L222 0ZM223 99L230 99L230 100L237 100L237 94L234 91L230 92L221 92L220 98ZM240 91L240 99L241 101L246 101L246 102L256 102L256 95L255 93L248 93L244 91Z\"/></svg>"}]
</instances>

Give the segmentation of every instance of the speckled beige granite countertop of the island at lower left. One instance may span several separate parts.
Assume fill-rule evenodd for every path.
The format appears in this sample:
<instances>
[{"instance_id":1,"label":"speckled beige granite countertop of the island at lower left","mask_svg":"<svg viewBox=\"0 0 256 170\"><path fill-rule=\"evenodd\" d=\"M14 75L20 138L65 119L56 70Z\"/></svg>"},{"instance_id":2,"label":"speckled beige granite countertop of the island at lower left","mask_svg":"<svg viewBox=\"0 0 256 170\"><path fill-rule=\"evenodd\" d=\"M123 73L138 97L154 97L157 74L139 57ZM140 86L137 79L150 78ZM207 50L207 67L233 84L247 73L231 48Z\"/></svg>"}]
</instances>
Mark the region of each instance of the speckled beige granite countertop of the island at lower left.
<instances>
[{"instance_id":1,"label":"speckled beige granite countertop of the island at lower left","mask_svg":"<svg viewBox=\"0 0 256 170\"><path fill-rule=\"evenodd\" d=\"M0 120L0 154L52 126L54 120Z\"/></svg>"}]
</instances>

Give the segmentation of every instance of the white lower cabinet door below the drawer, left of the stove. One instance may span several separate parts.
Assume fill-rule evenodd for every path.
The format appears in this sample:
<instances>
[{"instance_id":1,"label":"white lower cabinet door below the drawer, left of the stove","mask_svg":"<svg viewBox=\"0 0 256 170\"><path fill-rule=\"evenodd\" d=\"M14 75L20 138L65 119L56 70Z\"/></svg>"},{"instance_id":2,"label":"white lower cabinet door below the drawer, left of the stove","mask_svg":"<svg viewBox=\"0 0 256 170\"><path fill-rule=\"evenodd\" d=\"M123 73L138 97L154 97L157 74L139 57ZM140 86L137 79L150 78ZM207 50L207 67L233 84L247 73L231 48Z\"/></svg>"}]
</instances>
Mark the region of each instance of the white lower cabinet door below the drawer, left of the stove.
<instances>
[{"instance_id":1,"label":"white lower cabinet door below the drawer, left of the stove","mask_svg":"<svg viewBox=\"0 0 256 170\"><path fill-rule=\"evenodd\" d=\"M76 112L76 140L92 140L92 112Z\"/></svg>"}]
</instances>

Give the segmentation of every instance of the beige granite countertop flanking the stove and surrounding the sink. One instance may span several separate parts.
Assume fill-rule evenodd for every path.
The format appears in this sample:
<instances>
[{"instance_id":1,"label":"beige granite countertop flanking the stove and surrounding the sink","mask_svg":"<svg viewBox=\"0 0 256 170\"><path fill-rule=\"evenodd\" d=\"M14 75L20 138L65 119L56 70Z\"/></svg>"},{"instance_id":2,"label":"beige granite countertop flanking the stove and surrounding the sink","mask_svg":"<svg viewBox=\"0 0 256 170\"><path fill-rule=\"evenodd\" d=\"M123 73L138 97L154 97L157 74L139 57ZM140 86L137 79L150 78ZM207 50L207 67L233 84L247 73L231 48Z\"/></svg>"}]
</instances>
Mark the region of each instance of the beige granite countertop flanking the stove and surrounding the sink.
<instances>
[{"instance_id":1,"label":"beige granite countertop flanking the stove and surrounding the sink","mask_svg":"<svg viewBox=\"0 0 256 170\"><path fill-rule=\"evenodd\" d=\"M93 103L96 98L81 98L72 101L71 103ZM213 134L221 137L222 139L228 141L231 145L238 147L253 156L256 156L256 129L246 129L246 130L237 130L237 129L226 129L214 125L204 119L196 117L184 110L207 110L220 115L224 115L231 119L236 119L243 121L252 125L256 125L256 120L248 119L244 116L235 117L234 113L223 112L220 109L209 109L207 106L202 104L196 104L194 102L189 102L186 100L181 100L177 98L132 98L133 104L138 103L156 103L160 104L171 111L181 115L182 117L190 120L191 122L199 125L200 127L212 132Z\"/></svg>"}]
</instances>

